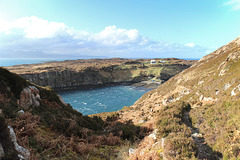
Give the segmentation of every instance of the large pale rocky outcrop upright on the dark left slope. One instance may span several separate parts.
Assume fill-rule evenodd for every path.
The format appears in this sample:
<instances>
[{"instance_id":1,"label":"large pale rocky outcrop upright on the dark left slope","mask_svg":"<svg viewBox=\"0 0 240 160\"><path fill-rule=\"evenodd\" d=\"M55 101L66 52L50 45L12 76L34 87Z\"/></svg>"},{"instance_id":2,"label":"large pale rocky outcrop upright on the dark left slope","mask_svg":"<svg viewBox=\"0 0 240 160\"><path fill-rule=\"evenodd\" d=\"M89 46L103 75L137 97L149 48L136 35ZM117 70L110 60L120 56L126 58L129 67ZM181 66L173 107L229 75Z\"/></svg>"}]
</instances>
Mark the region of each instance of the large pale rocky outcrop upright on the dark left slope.
<instances>
[{"instance_id":1,"label":"large pale rocky outcrop upright on the dark left slope","mask_svg":"<svg viewBox=\"0 0 240 160\"><path fill-rule=\"evenodd\" d=\"M19 106L27 109L30 106L40 106L41 100L39 90L35 86L29 86L23 89L20 94Z\"/></svg>"}]
</instances>

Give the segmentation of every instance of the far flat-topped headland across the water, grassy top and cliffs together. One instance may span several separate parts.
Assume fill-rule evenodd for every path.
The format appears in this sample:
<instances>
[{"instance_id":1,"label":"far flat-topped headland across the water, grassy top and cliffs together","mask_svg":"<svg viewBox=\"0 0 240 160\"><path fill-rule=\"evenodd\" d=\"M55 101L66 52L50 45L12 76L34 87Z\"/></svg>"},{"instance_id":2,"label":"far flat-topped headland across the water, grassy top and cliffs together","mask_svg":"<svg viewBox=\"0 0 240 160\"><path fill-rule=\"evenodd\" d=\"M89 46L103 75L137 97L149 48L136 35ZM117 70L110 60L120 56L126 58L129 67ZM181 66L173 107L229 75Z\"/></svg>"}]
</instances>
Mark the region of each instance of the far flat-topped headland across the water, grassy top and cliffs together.
<instances>
[{"instance_id":1,"label":"far flat-topped headland across the water, grassy top and cliffs together","mask_svg":"<svg viewBox=\"0 0 240 160\"><path fill-rule=\"evenodd\" d=\"M115 83L136 83L149 79L163 83L194 64L194 61L179 59L165 61L165 63L150 64L150 60L75 60L12 66L8 69L40 86L73 89Z\"/></svg>"}]
</instances>

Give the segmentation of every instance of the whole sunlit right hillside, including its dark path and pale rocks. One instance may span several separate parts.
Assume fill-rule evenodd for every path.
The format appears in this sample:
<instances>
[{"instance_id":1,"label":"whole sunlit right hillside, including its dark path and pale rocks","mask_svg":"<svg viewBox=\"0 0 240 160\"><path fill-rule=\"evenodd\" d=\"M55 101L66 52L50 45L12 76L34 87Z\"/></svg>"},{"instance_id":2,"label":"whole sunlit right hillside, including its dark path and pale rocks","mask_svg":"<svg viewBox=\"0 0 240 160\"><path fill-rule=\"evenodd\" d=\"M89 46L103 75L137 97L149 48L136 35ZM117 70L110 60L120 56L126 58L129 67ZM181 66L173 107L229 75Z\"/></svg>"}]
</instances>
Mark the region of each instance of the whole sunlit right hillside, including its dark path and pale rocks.
<instances>
[{"instance_id":1,"label":"whole sunlit right hillside, including its dark path and pale rocks","mask_svg":"<svg viewBox=\"0 0 240 160\"><path fill-rule=\"evenodd\" d=\"M154 131L130 159L240 159L240 38L120 112Z\"/></svg>"}]
</instances>

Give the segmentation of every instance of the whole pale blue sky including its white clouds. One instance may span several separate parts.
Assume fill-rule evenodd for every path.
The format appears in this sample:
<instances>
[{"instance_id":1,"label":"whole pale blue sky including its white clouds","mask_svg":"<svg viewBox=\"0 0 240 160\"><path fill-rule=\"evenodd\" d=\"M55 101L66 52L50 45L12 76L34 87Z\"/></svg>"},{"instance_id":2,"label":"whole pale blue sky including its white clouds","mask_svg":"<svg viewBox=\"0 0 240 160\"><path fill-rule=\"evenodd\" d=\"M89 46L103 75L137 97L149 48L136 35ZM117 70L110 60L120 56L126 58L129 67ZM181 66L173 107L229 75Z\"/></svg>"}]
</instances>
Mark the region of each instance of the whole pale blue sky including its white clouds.
<instances>
[{"instance_id":1,"label":"whole pale blue sky including its white clouds","mask_svg":"<svg viewBox=\"0 0 240 160\"><path fill-rule=\"evenodd\" d=\"M201 58L239 17L240 0L0 0L0 58Z\"/></svg>"}]
</instances>

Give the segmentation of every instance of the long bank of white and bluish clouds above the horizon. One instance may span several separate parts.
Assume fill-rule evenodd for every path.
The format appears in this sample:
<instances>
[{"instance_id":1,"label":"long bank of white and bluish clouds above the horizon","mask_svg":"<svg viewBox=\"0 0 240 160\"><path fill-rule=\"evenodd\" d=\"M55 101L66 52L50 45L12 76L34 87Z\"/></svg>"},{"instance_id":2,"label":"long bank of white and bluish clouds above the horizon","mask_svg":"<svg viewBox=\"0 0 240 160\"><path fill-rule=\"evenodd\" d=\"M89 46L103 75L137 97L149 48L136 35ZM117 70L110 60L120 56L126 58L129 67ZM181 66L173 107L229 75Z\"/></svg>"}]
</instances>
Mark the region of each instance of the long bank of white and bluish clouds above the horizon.
<instances>
[{"instance_id":1,"label":"long bank of white and bluish clouds above the horizon","mask_svg":"<svg viewBox=\"0 0 240 160\"><path fill-rule=\"evenodd\" d=\"M38 17L23 17L13 22L0 19L0 58L200 58L207 50L194 43L152 41L137 29L115 25L99 33L89 33Z\"/></svg>"}]
</instances>

